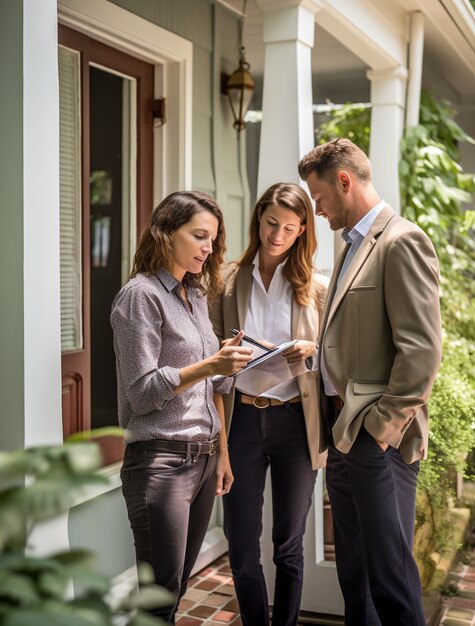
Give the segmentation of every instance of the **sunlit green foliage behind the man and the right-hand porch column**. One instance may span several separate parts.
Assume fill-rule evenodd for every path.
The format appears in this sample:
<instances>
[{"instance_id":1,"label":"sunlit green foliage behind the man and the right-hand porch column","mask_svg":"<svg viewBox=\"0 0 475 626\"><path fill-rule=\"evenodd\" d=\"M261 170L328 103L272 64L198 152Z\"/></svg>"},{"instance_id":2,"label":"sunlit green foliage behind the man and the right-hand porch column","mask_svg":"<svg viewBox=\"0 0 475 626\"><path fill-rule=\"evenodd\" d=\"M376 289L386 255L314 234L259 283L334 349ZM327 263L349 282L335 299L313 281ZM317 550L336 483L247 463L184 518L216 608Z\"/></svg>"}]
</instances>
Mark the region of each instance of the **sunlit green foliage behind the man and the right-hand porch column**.
<instances>
[{"instance_id":1,"label":"sunlit green foliage behind the man and the right-hand porch column","mask_svg":"<svg viewBox=\"0 0 475 626\"><path fill-rule=\"evenodd\" d=\"M370 110L347 104L317 131L320 143L347 136L369 151ZM418 560L448 547L448 507L454 475L467 473L475 445L475 212L464 211L475 189L459 164L458 144L473 140L455 122L449 103L424 92L420 124L401 143L401 211L428 234L441 266L443 357L429 403L428 460L421 464L416 530L429 523L431 542ZM470 468L468 468L469 473ZM435 564L432 564L434 566Z\"/></svg>"}]
</instances>

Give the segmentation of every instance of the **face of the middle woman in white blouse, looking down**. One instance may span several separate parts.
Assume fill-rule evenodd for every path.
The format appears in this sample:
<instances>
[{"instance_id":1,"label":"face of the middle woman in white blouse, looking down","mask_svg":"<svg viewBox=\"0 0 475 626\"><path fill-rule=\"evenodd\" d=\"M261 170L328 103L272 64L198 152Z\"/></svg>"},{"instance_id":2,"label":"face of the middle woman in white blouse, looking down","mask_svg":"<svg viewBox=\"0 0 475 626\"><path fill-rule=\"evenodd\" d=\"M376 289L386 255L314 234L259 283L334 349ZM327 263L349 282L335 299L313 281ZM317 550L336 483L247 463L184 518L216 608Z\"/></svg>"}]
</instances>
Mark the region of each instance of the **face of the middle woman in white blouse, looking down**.
<instances>
[{"instance_id":1,"label":"face of the middle woman in white blouse, looking down","mask_svg":"<svg viewBox=\"0 0 475 626\"><path fill-rule=\"evenodd\" d=\"M260 254L284 259L305 230L299 216L278 204L269 205L259 222Z\"/></svg>"}]
</instances>

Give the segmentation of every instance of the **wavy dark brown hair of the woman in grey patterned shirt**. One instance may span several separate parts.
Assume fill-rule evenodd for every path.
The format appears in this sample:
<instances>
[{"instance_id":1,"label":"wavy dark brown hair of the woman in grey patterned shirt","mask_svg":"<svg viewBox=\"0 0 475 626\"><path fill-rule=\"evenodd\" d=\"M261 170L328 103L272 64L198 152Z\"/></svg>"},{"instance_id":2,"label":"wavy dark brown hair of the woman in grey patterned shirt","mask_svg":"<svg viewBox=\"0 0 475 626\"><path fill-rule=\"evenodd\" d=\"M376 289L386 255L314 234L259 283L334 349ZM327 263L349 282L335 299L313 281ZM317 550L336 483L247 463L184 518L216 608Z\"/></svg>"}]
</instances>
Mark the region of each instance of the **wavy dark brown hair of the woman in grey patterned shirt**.
<instances>
[{"instance_id":1,"label":"wavy dark brown hair of the woman in grey patterned shirt","mask_svg":"<svg viewBox=\"0 0 475 626\"><path fill-rule=\"evenodd\" d=\"M222 289L221 268L226 250L223 214L211 196L200 191L176 191L164 198L152 213L149 224L140 235L130 278L137 274L155 274L159 268L173 268L171 235L187 224L196 213L209 211L218 220L218 234L213 252L199 274L187 272L184 282L198 287L212 300Z\"/></svg>"}]
</instances>

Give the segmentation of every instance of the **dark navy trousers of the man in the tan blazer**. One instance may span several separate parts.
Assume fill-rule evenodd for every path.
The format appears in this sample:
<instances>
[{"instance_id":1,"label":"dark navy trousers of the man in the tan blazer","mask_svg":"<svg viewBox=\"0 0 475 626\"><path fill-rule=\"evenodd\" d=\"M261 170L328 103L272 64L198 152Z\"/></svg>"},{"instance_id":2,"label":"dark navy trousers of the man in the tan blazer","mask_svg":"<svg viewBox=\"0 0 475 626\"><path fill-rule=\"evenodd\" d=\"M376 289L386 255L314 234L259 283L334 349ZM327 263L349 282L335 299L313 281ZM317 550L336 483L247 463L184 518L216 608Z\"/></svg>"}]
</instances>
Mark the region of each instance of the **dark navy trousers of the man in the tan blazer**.
<instances>
[{"instance_id":1,"label":"dark navy trousers of the man in the tan blazer","mask_svg":"<svg viewBox=\"0 0 475 626\"><path fill-rule=\"evenodd\" d=\"M326 480L347 626L426 624L412 556L418 470L364 427L348 454L330 444Z\"/></svg>"}]
</instances>

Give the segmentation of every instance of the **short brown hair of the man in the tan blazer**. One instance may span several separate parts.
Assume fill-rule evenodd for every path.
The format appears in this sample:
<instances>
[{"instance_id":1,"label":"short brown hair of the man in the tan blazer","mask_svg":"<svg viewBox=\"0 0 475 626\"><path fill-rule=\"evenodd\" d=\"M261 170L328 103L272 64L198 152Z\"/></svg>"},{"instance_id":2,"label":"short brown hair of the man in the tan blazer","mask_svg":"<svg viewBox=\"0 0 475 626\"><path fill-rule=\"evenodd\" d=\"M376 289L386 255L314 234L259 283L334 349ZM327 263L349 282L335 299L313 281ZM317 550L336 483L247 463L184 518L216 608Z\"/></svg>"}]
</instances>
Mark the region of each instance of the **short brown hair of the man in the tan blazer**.
<instances>
[{"instance_id":1,"label":"short brown hair of the man in the tan blazer","mask_svg":"<svg viewBox=\"0 0 475 626\"><path fill-rule=\"evenodd\" d=\"M361 182L371 180L371 163L366 154L349 139L338 137L310 150L298 164L299 175L307 180L311 172L328 182L335 182L341 169L353 172Z\"/></svg>"}]
</instances>

